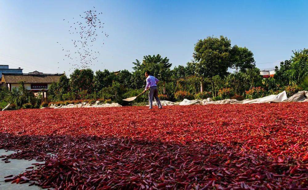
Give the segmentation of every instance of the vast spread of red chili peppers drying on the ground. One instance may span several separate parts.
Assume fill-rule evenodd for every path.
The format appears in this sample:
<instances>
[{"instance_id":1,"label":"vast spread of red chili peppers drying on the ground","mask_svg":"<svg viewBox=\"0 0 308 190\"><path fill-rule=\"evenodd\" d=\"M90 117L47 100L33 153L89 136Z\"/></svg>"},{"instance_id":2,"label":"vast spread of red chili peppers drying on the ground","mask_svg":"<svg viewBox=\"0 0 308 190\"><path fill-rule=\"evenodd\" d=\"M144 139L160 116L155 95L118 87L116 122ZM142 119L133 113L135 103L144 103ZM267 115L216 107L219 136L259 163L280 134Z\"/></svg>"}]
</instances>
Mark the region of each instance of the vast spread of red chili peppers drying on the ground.
<instances>
[{"instance_id":1,"label":"vast spread of red chili peppers drying on the ground","mask_svg":"<svg viewBox=\"0 0 308 190\"><path fill-rule=\"evenodd\" d=\"M5 111L0 149L18 152L1 159L45 160L6 178L43 188L307 188L307 116L307 103Z\"/></svg>"}]
</instances>

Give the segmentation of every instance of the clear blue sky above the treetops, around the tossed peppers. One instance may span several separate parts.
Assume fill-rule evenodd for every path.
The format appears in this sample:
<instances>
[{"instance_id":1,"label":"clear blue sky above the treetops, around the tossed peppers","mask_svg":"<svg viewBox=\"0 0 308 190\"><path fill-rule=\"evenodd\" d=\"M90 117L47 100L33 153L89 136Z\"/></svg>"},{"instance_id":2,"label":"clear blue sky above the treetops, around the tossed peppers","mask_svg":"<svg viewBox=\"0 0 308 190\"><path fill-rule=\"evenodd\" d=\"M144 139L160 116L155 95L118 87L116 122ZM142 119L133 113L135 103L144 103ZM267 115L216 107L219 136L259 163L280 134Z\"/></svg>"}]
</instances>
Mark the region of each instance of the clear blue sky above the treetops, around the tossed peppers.
<instances>
[{"instance_id":1,"label":"clear blue sky above the treetops, around the tossed peppers","mask_svg":"<svg viewBox=\"0 0 308 190\"><path fill-rule=\"evenodd\" d=\"M25 73L70 74L56 43L71 45L70 25L63 19L93 6L103 12L100 20L109 35L98 38L104 45L95 46L101 55L93 70L132 71L132 62L154 54L167 56L172 67L185 65L197 40L207 36L227 36L232 45L249 48L261 69L308 44L308 1L0 0L0 64Z\"/></svg>"}]
</instances>

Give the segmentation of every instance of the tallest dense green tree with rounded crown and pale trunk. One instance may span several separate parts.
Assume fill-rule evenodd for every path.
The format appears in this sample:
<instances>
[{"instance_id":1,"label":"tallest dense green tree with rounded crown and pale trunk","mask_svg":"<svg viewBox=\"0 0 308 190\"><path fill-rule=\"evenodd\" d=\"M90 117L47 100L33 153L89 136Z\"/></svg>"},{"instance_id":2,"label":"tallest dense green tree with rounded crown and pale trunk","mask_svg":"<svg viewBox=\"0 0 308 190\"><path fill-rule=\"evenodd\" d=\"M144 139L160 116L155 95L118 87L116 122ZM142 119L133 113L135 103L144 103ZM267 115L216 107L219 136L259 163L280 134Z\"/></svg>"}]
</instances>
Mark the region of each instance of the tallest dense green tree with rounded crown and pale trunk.
<instances>
[{"instance_id":1,"label":"tallest dense green tree with rounded crown and pale trunk","mask_svg":"<svg viewBox=\"0 0 308 190\"><path fill-rule=\"evenodd\" d=\"M231 66L231 41L224 36L220 38L207 37L199 40L194 48L193 58L196 74L200 77L200 91L203 92L205 78L209 78L214 90L215 84L212 77L224 77Z\"/></svg>"}]
</instances>

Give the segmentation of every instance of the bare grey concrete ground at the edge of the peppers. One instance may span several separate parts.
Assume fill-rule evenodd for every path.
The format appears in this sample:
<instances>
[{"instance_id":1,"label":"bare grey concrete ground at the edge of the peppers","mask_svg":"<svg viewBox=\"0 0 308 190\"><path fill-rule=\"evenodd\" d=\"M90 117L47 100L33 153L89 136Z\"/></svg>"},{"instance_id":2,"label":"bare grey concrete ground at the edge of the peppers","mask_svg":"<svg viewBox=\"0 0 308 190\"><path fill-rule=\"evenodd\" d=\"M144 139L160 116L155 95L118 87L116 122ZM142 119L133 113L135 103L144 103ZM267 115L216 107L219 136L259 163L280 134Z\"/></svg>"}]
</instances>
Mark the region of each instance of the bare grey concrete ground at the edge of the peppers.
<instances>
[{"instance_id":1,"label":"bare grey concrete ground at the edge of the peppers","mask_svg":"<svg viewBox=\"0 0 308 190\"><path fill-rule=\"evenodd\" d=\"M14 151L8 151L6 152L3 149L0 149L0 156L1 155L9 155L13 154ZM29 187L30 183L25 183L25 184L11 184L11 182L4 182L6 176L9 175L18 175L20 173L23 173L26 168L33 166L31 164L33 163L38 163L35 160L18 160L18 159L9 159L10 163L4 163L0 159L0 190L34 190L34 189L41 189L36 185L32 185ZM39 162L39 163L44 163L44 162ZM30 169L31 170L31 169Z\"/></svg>"}]
</instances>

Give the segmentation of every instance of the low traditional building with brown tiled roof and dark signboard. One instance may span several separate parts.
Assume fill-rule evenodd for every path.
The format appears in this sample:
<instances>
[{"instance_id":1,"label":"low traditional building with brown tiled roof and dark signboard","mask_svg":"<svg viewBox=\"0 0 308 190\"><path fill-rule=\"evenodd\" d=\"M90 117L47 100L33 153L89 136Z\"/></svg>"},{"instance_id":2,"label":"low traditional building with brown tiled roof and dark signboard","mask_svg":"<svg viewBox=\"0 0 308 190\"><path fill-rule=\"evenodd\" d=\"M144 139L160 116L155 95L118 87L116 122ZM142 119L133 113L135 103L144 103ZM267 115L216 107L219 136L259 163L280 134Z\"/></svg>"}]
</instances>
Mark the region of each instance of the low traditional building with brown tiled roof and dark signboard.
<instances>
[{"instance_id":1,"label":"low traditional building with brown tiled roof and dark signboard","mask_svg":"<svg viewBox=\"0 0 308 190\"><path fill-rule=\"evenodd\" d=\"M34 95L42 93L43 101L47 101L48 88L52 83L58 82L63 74L44 74L39 71L30 73L4 73L2 72L1 83L10 90L18 87L19 82L24 82L25 88L32 91Z\"/></svg>"}]
</instances>

